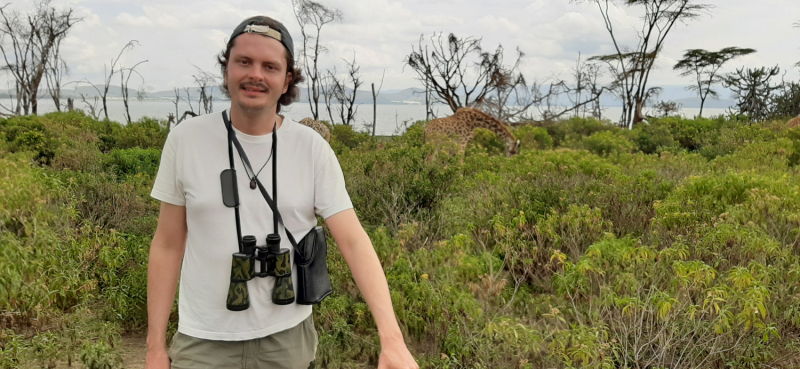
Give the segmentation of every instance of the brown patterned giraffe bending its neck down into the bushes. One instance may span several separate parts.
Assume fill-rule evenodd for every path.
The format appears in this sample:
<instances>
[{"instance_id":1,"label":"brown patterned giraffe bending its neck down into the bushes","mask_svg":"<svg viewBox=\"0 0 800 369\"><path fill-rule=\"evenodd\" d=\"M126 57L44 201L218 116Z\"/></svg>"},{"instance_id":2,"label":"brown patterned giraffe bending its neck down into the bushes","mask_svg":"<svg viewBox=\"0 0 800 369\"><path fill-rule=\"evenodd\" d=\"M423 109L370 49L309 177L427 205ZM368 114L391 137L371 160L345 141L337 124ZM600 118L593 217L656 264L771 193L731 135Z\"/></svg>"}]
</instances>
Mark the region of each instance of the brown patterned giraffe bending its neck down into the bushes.
<instances>
[{"instance_id":1,"label":"brown patterned giraffe bending its neck down into the bushes","mask_svg":"<svg viewBox=\"0 0 800 369\"><path fill-rule=\"evenodd\" d=\"M460 108L455 115L434 119L425 126L425 140L433 138L434 135L456 136L456 143L460 147L461 153L472 141L476 128L488 129L503 141L506 142L506 156L511 156L519 152L519 140L509 132L503 123L489 114L474 108Z\"/></svg>"}]
</instances>

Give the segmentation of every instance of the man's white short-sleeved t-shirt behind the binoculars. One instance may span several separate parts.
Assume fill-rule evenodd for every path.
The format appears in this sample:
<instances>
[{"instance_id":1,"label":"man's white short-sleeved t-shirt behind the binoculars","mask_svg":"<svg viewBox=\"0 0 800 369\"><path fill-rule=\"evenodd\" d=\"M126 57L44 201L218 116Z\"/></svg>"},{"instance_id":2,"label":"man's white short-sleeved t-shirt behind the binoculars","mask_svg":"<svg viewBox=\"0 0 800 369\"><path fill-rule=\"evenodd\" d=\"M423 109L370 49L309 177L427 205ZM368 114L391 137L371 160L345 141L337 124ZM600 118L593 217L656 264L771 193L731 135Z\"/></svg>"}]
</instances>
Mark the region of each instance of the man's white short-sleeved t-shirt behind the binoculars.
<instances>
[{"instance_id":1,"label":"man's white short-sleeved t-shirt behind the binoculars","mask_svg":"<svg viewBox=\"0 0 800 369\"><path fill-rule=\"evenodd\" d=\"M235 129L235 128L234 128ZM272 134L236 137L258 172L269 157ZM236 148L242 235L266 244L273 232L272 211L261 192L250 189ZM278 209L286 226L300 240L317 225L315 214L328 218L353 207L339 161L330 145L309 127L288 119L278 129ZM220 173L230 168L227 131L221 113L187 120L170 132L151 196L186 207L188 234L181 267L178 331L209 340L239 341L265 337L292 328L311 314L311 306L275 305L274 277L247 282L250 308L225 307L231 254L238 252L234 209L222 203ZM272 193L272 162L258 176ZM297 290L294 250L280 228L281 247L291 250L292 280Z\"/></svg>"}]
</instances>

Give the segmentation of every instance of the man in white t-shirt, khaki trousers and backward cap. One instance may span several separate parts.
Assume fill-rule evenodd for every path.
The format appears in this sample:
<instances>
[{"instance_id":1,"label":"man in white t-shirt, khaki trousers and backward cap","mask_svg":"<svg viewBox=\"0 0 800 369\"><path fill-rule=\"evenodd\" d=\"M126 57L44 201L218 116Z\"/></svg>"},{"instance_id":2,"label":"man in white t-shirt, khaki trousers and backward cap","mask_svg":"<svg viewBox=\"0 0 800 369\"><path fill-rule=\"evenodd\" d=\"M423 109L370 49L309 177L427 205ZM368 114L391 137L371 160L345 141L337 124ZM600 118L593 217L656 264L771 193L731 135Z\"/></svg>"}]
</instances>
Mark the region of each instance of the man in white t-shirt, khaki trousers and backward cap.
<instances>
[{"instance_id":1,"label":"man in white t-shirt, khaki trousers and backward cap","mask_svg":"<svg viewBox=\"0 0 800 369\"><path fill-rule=\"evenodd\" d=\"M221 114L188 120L167 138L151 194L162 203L150 249L145 367L313 366L317 335L311 307L274 304L274 277L247 282L248 309L226 308L239 220L222 201L223 170L236 166L241 234L264 240L279 232L280 247L291 249L283 227L273 229L273 214L260 191L248 186L257 177L271 190L272 163L267 162L277 136L275 200L286 228L299 240L316 225L316 215L325 219L375 317L381 341L378 367L418 368L403 341L386 277L352 208L336 156L313 130L278 115L281 105L297 98L296 85L303 81L295 68L289 32L273 19L248 18L234 30L218 59L223 90L231 98L227 113L253 170L246 170L235 153L229 157ZM292 269L294 273L295 266ZM179 276L178 333L167 350L166 329ZM294 283L296 288L296 277Z\"/></svg>"}]
</instances>

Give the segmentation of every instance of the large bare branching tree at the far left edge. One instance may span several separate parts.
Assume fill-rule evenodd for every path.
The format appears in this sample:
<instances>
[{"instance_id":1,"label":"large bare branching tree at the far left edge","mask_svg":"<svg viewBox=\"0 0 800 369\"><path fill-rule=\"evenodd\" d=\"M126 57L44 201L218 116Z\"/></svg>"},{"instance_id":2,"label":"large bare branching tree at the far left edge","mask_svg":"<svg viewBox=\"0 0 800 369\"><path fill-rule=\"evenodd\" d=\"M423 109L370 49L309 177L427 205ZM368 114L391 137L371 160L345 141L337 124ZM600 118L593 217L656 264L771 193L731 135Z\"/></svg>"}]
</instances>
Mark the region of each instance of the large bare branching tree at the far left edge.
<instances>
[{"instance_id":1,"label":"large bare branching tree at the far left edge","mask_svg":"<svg viewBox=\"0 0 800 369\"><path fill-rule=\"evenodd\" d=\"M47 73L51 59L58 58L56 49L69 29L81 18L73 9L56 10L51 0L39 0L24 16L0 7L0 52L15 82L16 104L12 114L38 112L39 85Z\"/></svg>"}]
</instances>

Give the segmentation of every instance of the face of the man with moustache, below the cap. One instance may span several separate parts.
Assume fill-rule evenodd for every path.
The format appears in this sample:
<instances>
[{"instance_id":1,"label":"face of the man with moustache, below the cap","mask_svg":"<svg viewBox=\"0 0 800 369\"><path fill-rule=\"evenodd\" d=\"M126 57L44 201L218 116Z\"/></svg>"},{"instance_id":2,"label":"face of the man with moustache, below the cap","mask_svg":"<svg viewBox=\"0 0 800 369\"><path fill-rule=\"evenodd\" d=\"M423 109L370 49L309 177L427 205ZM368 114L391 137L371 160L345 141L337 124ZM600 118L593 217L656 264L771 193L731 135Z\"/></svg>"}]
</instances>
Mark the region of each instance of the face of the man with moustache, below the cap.
<instances>
[{"instance_id":1,"label":"face of the man with moustache, below the cap","mask_svg":"<svg viewBox=\"0 0 800 369\"><path fill-rule=\"evenodd\" d=\"M246 110L276 111L278 99L289 88L287 68L286 49L280 41L251 33L239 35L224 76L231 103Z\"/></svg>"}]
</instances>

